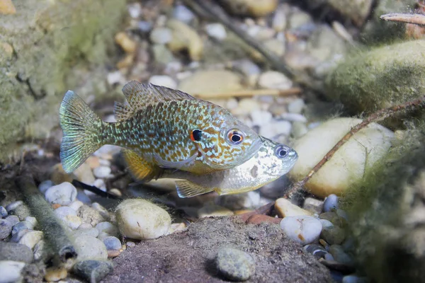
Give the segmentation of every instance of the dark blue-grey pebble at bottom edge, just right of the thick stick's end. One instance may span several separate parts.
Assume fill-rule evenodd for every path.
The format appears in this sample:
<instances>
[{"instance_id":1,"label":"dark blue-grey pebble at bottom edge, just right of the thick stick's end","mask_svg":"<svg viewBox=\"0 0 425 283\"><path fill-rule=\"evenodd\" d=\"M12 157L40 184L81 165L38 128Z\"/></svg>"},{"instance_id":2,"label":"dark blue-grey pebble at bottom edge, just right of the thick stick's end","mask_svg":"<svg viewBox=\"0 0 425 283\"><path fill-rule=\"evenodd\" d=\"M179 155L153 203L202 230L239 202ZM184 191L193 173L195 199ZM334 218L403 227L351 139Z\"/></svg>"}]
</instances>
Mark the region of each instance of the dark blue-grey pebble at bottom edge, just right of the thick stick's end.
<instances>
[{"instance_id":1,"label":"dark blue-grey pebble at bottom edge, just right of the thick stick's end","mask_svg":"<svg viewBox=\"0 0 425 283\"><path fill-rule=\"evenodd\" d=\"M113 271L113 264L106 260L82 260L74 265L73 271L87 282L100 282Z\"/></svg>"}]
</instances>

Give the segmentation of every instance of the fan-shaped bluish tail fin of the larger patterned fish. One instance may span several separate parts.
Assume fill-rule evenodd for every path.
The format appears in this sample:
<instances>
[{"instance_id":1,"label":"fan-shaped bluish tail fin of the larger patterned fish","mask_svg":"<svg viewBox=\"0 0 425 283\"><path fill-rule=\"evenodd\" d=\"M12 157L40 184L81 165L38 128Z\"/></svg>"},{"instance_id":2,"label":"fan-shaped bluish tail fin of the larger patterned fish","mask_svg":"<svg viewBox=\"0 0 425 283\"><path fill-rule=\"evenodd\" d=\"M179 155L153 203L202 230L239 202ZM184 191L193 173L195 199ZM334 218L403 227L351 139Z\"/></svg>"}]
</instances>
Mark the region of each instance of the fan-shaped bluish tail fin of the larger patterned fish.
<instances>
[{"instance_id":1,"label":"fan-shaped bluish tail fin of the larger patterned fish","mask_svg":"<svg viewBox=\"0 0 425 283\"><path fill-rule=\"evenodd\" d=\"M64 171L71 173L103 145L99 137L103 121L74 91L65 93L59 113L63 131L60 160Z\"/></svg>"}]
</instances>

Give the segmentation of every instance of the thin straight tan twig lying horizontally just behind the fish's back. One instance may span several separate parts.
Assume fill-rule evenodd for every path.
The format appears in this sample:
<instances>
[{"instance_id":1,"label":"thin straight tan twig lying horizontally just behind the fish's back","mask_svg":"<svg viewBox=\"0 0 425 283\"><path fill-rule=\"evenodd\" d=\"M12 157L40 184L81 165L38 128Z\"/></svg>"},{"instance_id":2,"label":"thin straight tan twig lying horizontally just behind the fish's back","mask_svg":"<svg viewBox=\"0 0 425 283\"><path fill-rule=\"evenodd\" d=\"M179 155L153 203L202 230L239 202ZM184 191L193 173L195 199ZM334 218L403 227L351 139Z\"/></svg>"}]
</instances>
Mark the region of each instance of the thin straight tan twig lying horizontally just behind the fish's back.
<instances>
[{"instance_id":1,"label":"thin straight tan twig lying horizontally just behind the fish's back","mask_svg":"<svg viewBox=\"0 0 425 283\"><path fill-rule=\"evenodd\" d=\"M225 93L195 93L192 94L196 98L210 99L210 98L232 98L244 96L294 96L300 94L301 88L289 88L285 91L278 89L246 89L242 91L229 91Z\"/></svg>"}]
</instances>

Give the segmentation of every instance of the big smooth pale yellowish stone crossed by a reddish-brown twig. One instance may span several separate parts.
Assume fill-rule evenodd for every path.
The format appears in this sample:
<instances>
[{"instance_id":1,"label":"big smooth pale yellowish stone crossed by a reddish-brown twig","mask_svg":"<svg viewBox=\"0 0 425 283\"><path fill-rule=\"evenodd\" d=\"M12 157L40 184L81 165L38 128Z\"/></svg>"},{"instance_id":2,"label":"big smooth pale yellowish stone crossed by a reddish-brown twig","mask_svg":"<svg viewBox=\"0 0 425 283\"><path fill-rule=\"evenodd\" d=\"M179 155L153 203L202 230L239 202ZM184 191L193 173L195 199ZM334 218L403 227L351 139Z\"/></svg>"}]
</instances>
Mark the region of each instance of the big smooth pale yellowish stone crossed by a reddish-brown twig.
<instances>
[{"instance_id":1,"label":"big smooth pale yellowish stone crossed by a reddish-brown twig","mask_svg":"<svg viewBox=\"0 0 425 283\"><path fill-rule=\"evenodd\" d=\"M354 118L329 120L295 141L293 148L299 157L288 173L290 178L297 181L304 178L351 127L359 122L360 119ZM353 183L363 178L365 171L387 154L393 137L394 133L390 129L375 123L361 129L336 151L305 187L318 197L343 194Z\"/></svg>"}]
</instances>

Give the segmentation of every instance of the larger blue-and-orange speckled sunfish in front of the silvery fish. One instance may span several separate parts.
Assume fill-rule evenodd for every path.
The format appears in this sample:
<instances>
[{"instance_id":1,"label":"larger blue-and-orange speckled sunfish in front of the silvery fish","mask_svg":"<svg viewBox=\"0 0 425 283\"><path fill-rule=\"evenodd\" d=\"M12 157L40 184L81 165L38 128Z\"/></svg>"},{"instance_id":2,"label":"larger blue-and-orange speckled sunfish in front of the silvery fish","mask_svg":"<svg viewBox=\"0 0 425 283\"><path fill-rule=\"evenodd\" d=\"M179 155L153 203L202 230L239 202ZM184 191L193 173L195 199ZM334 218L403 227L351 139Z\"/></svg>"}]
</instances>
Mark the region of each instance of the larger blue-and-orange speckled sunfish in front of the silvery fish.
<instances>
[{"instance_id":1,"label":"larger blue-and-orange speckled sunfish in front of the silvery fish","mask_svg":"<svg viewBox=\"0 0 425 283\"><path fill-rule=\"evenodd\" d=\"M130 81L123 94L128 105L115 102L117 122L105 122L74 91L65 93L60 105L65 172L105 144L122 147L132 175L144 181L164 168L199 175L227 170L261 146L259 135L230 112L188 93Z\"/></svg>"}]
</instances>

